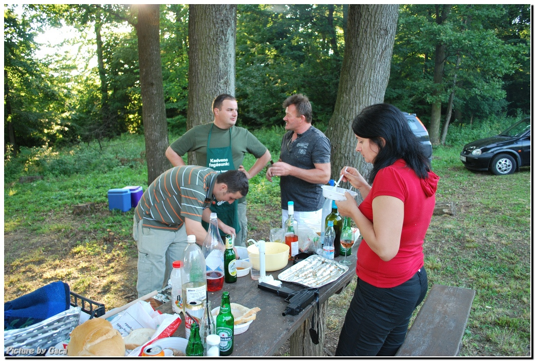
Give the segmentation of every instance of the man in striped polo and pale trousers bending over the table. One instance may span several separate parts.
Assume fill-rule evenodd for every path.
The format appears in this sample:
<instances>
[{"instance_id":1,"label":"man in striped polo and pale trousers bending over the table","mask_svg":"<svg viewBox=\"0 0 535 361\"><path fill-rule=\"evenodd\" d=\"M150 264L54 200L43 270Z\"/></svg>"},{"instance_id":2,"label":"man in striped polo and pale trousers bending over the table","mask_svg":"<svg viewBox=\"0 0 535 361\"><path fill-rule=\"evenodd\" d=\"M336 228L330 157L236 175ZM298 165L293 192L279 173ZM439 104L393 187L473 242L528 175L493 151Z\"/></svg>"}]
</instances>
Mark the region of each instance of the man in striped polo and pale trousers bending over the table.
<instances>
[{"instance_id":1,"label":"man in striped polo and pale trousers bending over the table","mask_svg":"<svg viewBox=\"0 0 535 361\"><path fill-rule=\"evenodd\" d=\"M137 242L137 297L160 290L169 281L173 261L181 260L187 235L202 246L213 199L232 204L249 191L247 175L238 170L218 174L207 167L174 167L143 193L134 211L133 237ZM220 223L221 231L231 227Z\"/></svg>"}]
</instances>

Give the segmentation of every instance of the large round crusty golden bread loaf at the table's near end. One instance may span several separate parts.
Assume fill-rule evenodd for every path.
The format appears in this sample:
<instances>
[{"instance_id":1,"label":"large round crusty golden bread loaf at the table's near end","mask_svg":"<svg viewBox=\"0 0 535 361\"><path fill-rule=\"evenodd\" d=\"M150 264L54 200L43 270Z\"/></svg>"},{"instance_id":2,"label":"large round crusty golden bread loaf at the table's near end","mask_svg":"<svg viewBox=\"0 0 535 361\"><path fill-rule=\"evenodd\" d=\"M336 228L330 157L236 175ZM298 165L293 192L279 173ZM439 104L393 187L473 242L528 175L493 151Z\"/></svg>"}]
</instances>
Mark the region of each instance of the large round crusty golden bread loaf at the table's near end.
<instances>
[{"instance_id":1,"label":"large round crusty golden bread loaf at the table's near end","mask_svg":"<svg viewBox=\"0 0 535 361\"><path fill-rule=\"evenodd\" d=\"M125 356L125 342L110 321L93 318L71 332L67 356Z\"/></svg>"}]
</instances>

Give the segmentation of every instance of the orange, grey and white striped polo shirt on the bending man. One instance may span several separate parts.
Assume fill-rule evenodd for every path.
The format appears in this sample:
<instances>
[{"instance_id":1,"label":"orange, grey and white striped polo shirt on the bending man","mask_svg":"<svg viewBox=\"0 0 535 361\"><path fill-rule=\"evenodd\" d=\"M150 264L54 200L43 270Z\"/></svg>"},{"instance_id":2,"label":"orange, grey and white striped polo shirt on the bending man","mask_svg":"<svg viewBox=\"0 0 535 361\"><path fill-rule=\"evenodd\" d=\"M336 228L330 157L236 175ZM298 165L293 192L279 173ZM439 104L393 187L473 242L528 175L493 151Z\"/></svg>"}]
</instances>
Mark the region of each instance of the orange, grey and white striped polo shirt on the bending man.
<instances>
[{"instance_id":1,"label":"orange, grey and white striped polo shirt on the bending man","mask_svg":"<svg viewBox=\"0 0 535 361\"><path fill-rule=\"evenodd\" d=\"M163 172L143 193L134 217L143 227L178 230L185 217L201 222L213 198L217 172L207 167L181 166Z\"/></svg>"}]
</instances>

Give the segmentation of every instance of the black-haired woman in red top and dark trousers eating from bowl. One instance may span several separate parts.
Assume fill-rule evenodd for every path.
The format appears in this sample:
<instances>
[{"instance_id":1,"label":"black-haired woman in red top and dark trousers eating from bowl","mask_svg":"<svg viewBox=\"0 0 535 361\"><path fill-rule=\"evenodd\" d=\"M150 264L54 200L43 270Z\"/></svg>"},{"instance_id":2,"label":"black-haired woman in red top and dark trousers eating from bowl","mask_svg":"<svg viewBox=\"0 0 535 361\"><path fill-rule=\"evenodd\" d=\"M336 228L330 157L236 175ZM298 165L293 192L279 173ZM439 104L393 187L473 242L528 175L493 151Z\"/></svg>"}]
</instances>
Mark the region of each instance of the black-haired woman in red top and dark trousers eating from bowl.
<instances>
[{"instance_id":1,"label":"black-haired woman in red top and dark trousers eating from bowl","mask_svg":"<svg viewBox=\"0 0 535 361\"><path fill-rule=\"evenodd\" d=\"M366 107L352 128L355 150L373 168L370 183L355 168L340 172L364 201L357 207L347 193L346 201L336 202L338 211L353 219L363 239L357 287L335 356L394 356L427 292L422 246L439 177L398 108Z\"/></svg>"}]
</instances>

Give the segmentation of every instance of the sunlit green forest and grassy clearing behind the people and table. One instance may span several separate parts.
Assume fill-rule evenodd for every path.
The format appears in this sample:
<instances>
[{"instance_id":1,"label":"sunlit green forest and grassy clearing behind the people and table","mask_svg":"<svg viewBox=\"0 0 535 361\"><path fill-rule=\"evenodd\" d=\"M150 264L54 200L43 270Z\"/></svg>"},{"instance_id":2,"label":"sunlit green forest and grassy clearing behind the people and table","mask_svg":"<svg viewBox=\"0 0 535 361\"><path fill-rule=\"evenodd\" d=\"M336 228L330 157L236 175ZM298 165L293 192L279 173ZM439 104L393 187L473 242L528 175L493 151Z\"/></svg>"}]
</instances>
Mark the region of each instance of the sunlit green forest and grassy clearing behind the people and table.
<instances>
[{"instance_id":1,"label":"sunlit green forest and grassy clearing behind the people and table","mask_svg":"<svg viewBox=\"0 0 535 361\"><path fill-rule=\"evenodd\" d=\"M167 144L192 125L190 101L196 96L188 81L188 51L200 40L190 36L189 20L198 6L157 9ZM351 117L339 128L334 118L337 102L350 97L339 87L347 76L346 48L355 39L349 25L376 30L366 17L354 21L351 11L373 5L234 6L230 88L238 98L238 125L254 131L277 157L282 101L304 93L314 125L337 139L333 154L354 154L344 138L352 135ZM424 252L430 283L476 289L462 356L531 355L530 168L492 177L470 172L458 160L466 142L530 115L530 11L519 4L417 4L400 5L389 18L395 37L388 84L374 99L422 119L433 142L433 169L441 176L437 200L457 207L456 216L433 217ZM106 200L112 187L145 189L150 179L135 20L133 7L119 5L4 7L5 301L55 280L106 309L135 298L132 214L109 211ZM77 34L67 47L37 56L37 35L66 25ZM384 60L361 53L371 62ZM370 79L356 86L371 93L371 83L379 81ZM205 114L215 95L205 94ZM352 103L364 105L350 97L345 106ZM246 167L252 163L246 157ZM333 174L339 169L333 166ZM26 176L43 178L20 183ZM251 189L251 237L265 238L280 217L278 183L261 174L251 179ZM73 205L86 202L95 203L94 213L75 215ZM334 352L353 289L354 283L332 298L326 355Z\"/></svg>"}]
</instances>

